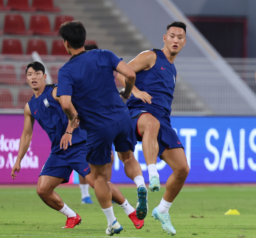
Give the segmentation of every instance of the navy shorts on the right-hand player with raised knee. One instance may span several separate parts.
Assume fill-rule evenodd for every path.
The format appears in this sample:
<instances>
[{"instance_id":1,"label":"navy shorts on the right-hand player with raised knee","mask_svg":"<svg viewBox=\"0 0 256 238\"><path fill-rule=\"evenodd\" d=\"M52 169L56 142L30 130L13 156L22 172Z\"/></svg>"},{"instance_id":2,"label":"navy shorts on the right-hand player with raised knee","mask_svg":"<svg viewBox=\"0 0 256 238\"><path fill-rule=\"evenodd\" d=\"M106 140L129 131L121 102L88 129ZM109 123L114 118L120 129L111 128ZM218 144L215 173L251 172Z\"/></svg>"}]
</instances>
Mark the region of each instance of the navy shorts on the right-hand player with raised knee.
<instances>
[{"instance_id":1,"label":"navy shorts on the right-hand player with raised knee","mask_svg":"<svg viewBox=\"0 0 256 238\"><path fill-rule=\"evenodd\" d=\"M142 141L142 136L139 134L139 130L137 127L138 119L143 113L150 113L156 119L158 119L160 123L160 129L158 132L158 145L159 152L158 157L162 155L166 149L174 149L174 148L183 148L180 139L178 138L175 130L173 130L170 122L170 118L167 115L162 115L159 112L151 110L149 108L134 108L130 110L130 115L132 117L132 128L135 131L137 141Z\"/></svg>"}]
</instances>

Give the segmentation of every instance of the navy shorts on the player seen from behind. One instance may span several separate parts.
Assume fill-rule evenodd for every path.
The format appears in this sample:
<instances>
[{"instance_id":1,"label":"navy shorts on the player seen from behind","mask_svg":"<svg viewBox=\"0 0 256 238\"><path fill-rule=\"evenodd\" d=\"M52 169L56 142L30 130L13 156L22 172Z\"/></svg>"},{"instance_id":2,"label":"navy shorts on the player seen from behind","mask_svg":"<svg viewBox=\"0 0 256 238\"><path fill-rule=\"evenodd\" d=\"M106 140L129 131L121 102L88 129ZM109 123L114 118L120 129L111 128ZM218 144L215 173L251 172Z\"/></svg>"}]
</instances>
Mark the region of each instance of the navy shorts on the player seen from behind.
<instances>
[{"instance_id":1,"label":"navy shorts on the player seen from behind","mask_svg":"<svg viewBox=\"0 0 256 238\"><path fill-rule=\"evenodd\" d=\"M86 160L89 164L111 163L112 144L117 152L128 150L134 152L137 141L132 130L132 119L128 113L112 126L87 131Z\"/></svg>"}]
</instances>

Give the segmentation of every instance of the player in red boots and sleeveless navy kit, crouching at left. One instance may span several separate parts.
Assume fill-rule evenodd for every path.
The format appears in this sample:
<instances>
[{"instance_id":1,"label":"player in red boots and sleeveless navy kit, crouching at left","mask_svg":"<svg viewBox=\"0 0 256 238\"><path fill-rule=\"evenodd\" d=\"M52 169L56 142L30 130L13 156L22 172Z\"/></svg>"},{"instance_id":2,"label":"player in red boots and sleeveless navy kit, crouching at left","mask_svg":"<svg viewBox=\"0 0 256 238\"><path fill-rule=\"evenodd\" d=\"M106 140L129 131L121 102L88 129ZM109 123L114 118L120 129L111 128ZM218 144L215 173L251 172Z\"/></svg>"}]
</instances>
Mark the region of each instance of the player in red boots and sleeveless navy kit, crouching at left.
<instances>
[{"instance_id":1,"label":"player in red boots and sleeveless navy kit, crouching at left","mask_svg":"<svg viewBox=\"0 0 256 238\"><path fill-rule=\"evenodd\" d=\"M69 125L68 117L60 106L60 98L56 97L57 85L46 85L46 77L45 68L41 63L33 62L26 67L26 80L33 89L34 95L24 109L24 128L11 176L15 179L17 176L15 171L20 170L20 163L29 148L36 119L52 142L50 156L39 175L37 193L46 205L67 216L63 228L74 228L81 223L81 217L62 201L54 189L60 183L68 182L73 169L94 187L90 167L85 159L87 133L81 129L73 130ZM120 190L112 183L109 183L109 186L113 195L112 200L124 209L135 227L140 229L144 221L136 218L135 209Z\"/></svg>"}]
</instances>

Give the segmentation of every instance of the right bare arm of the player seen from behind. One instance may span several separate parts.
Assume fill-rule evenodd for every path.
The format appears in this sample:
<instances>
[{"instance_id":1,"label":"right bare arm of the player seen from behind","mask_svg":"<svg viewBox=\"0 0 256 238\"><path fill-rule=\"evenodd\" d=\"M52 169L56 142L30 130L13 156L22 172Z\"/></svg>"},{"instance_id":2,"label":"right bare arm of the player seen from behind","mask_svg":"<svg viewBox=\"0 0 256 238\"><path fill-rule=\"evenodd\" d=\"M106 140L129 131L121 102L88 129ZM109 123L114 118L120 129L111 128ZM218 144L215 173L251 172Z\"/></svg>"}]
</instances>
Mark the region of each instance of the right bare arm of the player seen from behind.
<instances>
[{"instance_id":1,"label":"right bare arm of the player seen from behind","mask_svg":"<svg viewBox=\"0 0 256 238\"><path fill-rule=\"evenodd\" d=\"M132 88L135 83L136 74L124 61L120 61L117 65L117 72L124 76L124 91L120 92L120 95L128 99L132 94Z\"/></svg>"}]
</instances>

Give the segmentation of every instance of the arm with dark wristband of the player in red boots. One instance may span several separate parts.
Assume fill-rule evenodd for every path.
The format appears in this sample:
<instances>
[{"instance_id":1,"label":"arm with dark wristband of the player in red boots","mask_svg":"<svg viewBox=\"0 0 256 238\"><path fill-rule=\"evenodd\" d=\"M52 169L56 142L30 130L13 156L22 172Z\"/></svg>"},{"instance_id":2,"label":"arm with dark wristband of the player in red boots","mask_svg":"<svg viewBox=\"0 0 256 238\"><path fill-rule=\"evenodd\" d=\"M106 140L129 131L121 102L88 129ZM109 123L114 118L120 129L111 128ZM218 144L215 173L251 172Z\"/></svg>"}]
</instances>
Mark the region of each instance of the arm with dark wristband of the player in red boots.
<instances>
[{"instance_id":1,"label":"arm with dark wristband of the player in red boots","mask_svg":"<svg viewBox=\"0 0 256 238\"><path fill-rule=\"evenodd\" d=\"M52 96L58 103L60 103L61 99L60 99L60 97L57 97L56 94L57 94L57 87L55 87L53 89ZM72 107L73 107L73 112L75 114L77 114L73 104L72 104ZM62 138L60 140L60 149L62 149L62 147L63 147L64 150L68 149L68 142L69 142L69 145L72 145L73 130L74 130L74 128L72 128L72 126L70 126L70 120L68 119L68 126L67 126L67 129L66 129L66 133L64 133L64 135L62 136Z\"/></svg>"}]
</instances>

